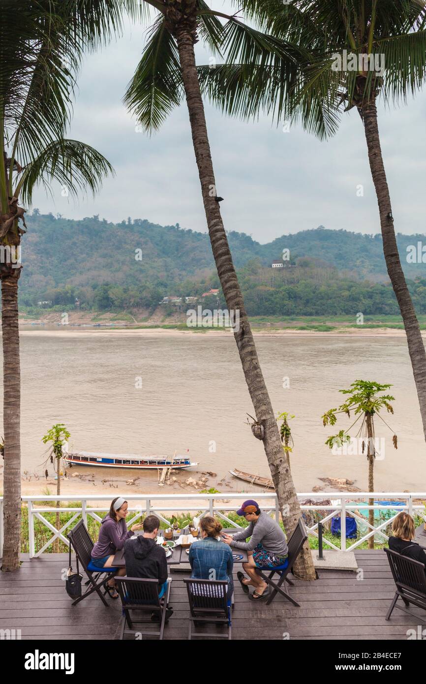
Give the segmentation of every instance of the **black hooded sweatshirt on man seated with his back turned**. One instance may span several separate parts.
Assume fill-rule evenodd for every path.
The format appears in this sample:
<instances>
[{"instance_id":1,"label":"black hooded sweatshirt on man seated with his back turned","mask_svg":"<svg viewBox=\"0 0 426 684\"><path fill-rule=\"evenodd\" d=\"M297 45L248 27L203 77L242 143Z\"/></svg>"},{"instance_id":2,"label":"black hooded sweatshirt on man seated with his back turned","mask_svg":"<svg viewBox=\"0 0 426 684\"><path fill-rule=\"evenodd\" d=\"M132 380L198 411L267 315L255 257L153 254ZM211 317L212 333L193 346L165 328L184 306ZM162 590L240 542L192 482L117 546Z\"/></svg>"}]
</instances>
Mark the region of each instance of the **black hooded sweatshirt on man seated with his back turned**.
<instances>
[{"instance_id":1,"label":"black hooded sweatshirt on man seated with his back turned","mask_svg":"<svg viewBox=\"0 0 426 684\"><path fill-rule=\"evenodd\" d=\"M167 580L165 551L155 539L142 535L136 539L128 539L124 544L124 560L127 577L158 579L159 586Z\"/></svg>"}]
</instances>

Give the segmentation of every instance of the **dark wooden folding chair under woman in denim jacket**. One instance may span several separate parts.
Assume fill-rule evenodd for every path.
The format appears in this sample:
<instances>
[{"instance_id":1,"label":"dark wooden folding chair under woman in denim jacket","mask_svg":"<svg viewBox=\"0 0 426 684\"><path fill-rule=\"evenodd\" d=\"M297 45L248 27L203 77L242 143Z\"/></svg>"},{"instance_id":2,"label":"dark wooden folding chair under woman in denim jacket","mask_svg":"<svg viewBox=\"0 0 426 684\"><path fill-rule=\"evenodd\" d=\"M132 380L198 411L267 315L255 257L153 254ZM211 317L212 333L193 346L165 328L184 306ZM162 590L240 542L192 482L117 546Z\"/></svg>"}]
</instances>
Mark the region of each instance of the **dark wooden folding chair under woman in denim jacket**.
<instances>
[{"instance_id":1,"label":"dark wooden folding chair under woman in denim jacket","mask_svg":"<svg viewBox=\"0 0 426 684\"><path fill-rule=\"evenodd\" d=\"M231 638L231 600L226 596L228 583L213 579L183 579L187 586L189 601L189 641L192 637L219 637L230 640ZM226 634L220 633L195 633L192 627L198 624L226 624Z\"/></svg>"}]
</instances>

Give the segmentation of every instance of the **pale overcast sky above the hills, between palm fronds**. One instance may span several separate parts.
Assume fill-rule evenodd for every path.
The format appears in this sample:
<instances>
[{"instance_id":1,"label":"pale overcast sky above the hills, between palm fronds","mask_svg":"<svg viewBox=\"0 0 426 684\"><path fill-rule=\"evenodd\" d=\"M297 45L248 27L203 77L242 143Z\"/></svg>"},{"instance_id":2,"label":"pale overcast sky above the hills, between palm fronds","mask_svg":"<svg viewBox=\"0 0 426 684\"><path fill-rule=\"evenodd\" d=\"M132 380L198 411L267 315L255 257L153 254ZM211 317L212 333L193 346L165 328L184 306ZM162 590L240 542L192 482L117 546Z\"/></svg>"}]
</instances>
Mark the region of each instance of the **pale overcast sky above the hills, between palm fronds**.
<instances>
[{"instance_id":1,"label":"pale overcast sky above the hills, between palm fronds","mask_svg":"<svg viewBox=\"0 0 426 684\"><path fill-rule=\"evenodd\" d=\"M220 4L220 3L219 3ZM222 9L222 8L220 8ZM226 6L225 6L226 11ZM36 192L34 207L67 218L99 214L117 222L129 215L162 225L206 231L198 172L185 103L158 133L137 133L122 96L139 62L142 27L102 52L88 55L79 77L70 137L98 149L116 170L101 194L75 205ZM197 45L197 62L209 54ZM379 125L395 230L425 233L426 93L408 106L380 108ZM217 192L225 228L261 243L320 224L380 232L377 201L358 113L345 114L334 139L320 142L294 127L283 133L271 120L240 122L206 105ZM364 196L357 196L357 185Z\"/></svg>"}]
</instances>

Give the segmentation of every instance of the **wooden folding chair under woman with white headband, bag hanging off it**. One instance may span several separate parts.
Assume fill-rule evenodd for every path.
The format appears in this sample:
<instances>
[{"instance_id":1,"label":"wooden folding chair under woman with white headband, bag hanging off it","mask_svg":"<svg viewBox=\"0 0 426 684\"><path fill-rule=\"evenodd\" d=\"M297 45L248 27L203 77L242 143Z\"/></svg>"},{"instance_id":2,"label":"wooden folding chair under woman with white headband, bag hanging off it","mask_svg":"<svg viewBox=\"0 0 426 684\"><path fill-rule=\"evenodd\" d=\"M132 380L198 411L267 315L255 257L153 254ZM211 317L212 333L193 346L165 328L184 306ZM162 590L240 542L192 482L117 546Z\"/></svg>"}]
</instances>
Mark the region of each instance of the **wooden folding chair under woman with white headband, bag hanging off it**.
<instances>
[{"instance_id":1,"label":"wooden folding chair under woman with white headband, bag hanging off it","mask_svg":"<svg viewBox=\"0 0 426 684\"><path fill-rule=\"evenodd\" d=\"M75 551L75 555L78 557L79 562L83 566L85 574L89 578L86 582L86 584L89 585L88 589L84 592L84 594L79 596L78 599L72 601L71 605L76 605L80 601L83 601L83 599L87 599L87 597L90 596L90 594L93 594L93 592L96 592L102 603L109 607L109 603L107 603L105 600L107 589L105 588L106 579L104 575L113 575L117 572L118 568L98 568L96 565L92 564L92 550L94 543L92 542L92 538L88 533L83 520L79 521L79 523L77 523L77 525L75 525L75 527L68 532L67 537L70 540L72 549ZM99 581L100 577L102 577L101 581ZM101 592L102 588L104 589L103 594Z\"/></svg>"}]
</instances>

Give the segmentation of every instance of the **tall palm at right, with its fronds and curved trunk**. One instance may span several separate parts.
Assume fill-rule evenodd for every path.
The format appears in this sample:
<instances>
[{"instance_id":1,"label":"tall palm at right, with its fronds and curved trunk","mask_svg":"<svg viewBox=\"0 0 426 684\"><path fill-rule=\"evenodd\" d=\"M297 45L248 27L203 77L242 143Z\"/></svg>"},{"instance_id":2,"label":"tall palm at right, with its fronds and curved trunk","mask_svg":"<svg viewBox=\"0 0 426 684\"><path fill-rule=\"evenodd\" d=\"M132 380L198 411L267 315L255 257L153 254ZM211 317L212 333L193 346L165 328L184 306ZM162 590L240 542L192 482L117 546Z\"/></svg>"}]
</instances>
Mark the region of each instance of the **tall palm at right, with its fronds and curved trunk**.
<instances>
[{"instance_id":1,"label":"tall palm at right, with its fronds and curved trunk","mask_svg":"<svg viewBox=\"0 0 426 684\"><path fill-rule=\"evenodd\" d=\"M200 69L202 88L228 114L265 111L302 122L321 138L334 135L343 111L356 108L364 128L377 195L383 250L401 311L426 439L426 352L401 267L377 124L376 100L405 102L426 74L423 0L245 0L245 11L277 38L304 51L289 88L274 65L227 63ZM345 105L345 106L343 106Z\"/></svg>"}]
</instances>

